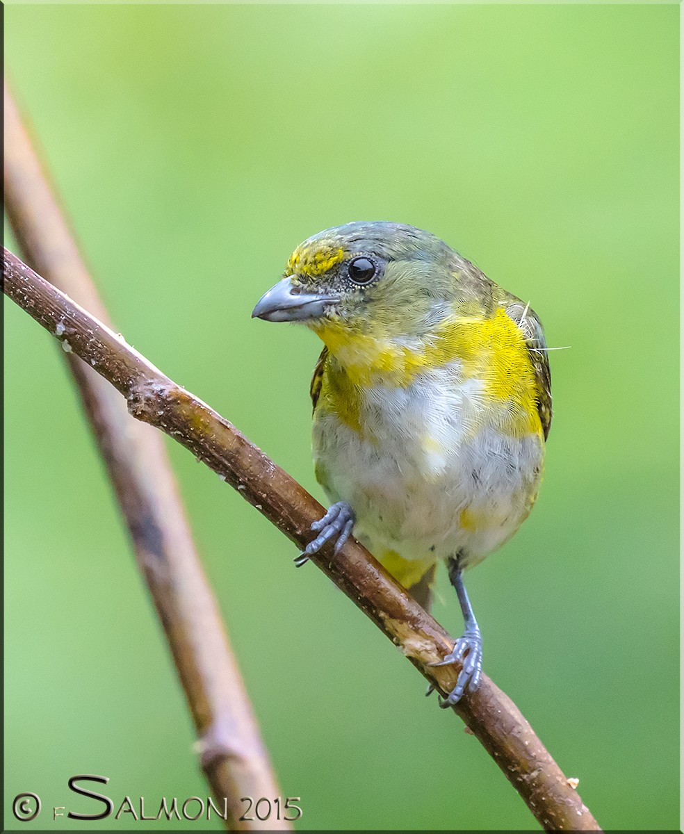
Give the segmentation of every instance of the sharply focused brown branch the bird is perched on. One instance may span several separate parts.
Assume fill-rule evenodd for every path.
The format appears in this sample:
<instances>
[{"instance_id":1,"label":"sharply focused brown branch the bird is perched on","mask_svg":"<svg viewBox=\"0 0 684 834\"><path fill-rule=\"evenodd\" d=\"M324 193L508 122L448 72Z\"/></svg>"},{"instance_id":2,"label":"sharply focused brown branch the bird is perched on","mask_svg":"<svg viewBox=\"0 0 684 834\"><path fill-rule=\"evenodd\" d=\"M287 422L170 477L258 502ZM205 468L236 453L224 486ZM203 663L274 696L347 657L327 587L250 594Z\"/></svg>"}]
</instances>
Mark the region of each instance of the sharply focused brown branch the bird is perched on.
<instances>
[{"instance_id":1,"label":"sharply focused brown branch the bird is perched on","mask_svg":"<svg viewBox=\"0 0 684 834\"><path fill-rule=\"evenodd\" d=\"M5 250L4 292L63 345L108 379L128 410L203 460L299 548L323 508L293 478L208 405L164 376L82 308ZM458 666L430 666L453 640L355 540L338 556L328 545L312 561L384 632L439 691ZM510 698L486 676L454 707L547 830L600 830L580 796Z\"/></svg>"}]
</instances>

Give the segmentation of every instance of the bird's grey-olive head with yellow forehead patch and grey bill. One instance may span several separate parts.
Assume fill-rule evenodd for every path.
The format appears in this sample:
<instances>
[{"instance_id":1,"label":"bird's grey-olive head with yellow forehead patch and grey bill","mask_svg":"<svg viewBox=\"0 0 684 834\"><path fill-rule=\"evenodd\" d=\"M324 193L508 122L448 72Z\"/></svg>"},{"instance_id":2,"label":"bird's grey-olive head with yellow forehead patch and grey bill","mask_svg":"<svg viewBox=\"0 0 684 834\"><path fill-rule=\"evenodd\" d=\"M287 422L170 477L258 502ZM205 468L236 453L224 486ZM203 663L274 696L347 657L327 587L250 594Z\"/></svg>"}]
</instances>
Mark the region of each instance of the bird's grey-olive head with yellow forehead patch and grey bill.
<instances>
[{"instance_id":1,"label":"bird's grey-olive head with yellow forehead patch and grey bill","mask_svg":"<svg viewBox=\"0 0 684 834\"><path fill-rule=\"evenodd\" d=\"M460 264L468 262L413 226L337 226L294 250L284 278L252 315L301 322L328 344L352 335L420 336L453 312L463 284Z\"/></svg>"}]
</instances>

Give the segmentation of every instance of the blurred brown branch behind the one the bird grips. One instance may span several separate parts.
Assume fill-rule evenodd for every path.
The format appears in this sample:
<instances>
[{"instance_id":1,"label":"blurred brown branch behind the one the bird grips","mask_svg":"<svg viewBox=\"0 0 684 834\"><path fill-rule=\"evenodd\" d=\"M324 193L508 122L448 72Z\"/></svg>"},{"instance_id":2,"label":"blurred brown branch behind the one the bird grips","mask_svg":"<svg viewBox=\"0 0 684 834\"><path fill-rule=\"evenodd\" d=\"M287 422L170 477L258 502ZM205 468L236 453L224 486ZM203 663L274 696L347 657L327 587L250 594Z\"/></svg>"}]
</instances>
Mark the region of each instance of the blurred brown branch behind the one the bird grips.
<instances>
[{"instance_id":1,"label":"blurred brown branch behind the one the bird grips","mask_svg":"<svg viewBox=\"0 0 684 834\"><path fill-rule=\"evenodd\" d=\"M16 237L37 269L107 321L7 88L4 110L5 201ZM68 361L184 687L201 765L221 811L224 797L228 801L226 826L289 829L284 821L239 821L242 796L273 797L280 791L194 547L163 438L131 420L117 392L91 367L74 354Z\"/></svg>"}]
</instances>

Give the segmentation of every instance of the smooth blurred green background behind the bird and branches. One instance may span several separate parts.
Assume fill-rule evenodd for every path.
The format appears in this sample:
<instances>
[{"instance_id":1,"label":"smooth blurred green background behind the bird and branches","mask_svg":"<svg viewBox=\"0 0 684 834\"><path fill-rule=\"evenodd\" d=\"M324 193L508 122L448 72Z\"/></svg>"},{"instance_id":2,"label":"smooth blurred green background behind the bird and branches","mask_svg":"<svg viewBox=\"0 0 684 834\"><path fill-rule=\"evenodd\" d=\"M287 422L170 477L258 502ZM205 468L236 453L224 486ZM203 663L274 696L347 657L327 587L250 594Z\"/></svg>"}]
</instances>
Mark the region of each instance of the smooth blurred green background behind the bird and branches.
<instances>
[{"instance_id":1,"label":"smooth blurred green background behind the bird and branches","mask_svg":"<svg viewBox=\"0 0 684 834\"><path fill-rule=\"evenodd\" d=\"M678 822L678 11L5 9L13 88L118 328L317 497L319 344L249 318L309 234L430 229L571 345L536 509L468 587L486 671L606 828ZM6 825L19 791L92 811L80 772L116 806L206 796L61 351L9 302L5 324ZM534 826L375 626L168 447L299 827Z\"/></svg>"}]
</instances>

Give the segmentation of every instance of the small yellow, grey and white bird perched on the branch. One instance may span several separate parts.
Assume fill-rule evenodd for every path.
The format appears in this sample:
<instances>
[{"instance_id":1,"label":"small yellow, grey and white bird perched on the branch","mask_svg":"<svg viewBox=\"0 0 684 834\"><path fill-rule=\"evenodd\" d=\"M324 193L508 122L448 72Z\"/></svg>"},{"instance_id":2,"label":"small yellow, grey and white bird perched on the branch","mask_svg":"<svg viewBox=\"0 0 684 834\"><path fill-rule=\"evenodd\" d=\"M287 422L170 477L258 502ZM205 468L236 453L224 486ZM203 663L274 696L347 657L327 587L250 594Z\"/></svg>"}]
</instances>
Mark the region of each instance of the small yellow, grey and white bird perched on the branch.
<instances>
[{"instance_id":1,"label":"small yellow, grey and white bird perched on the branch","mask_svg":"<svg viewBox=\"0 0 684 834\"><path fill-rule=\"evenodd\" d=\"M458 703L482 670L463 572L516 533L541 483L551 372L539 317L435 234L389 221L304 240L252 316L324 343L312 445L331 505L295 564L353 533L430 610L445 562L465 630L435 665L461 665L440 698Z\"/></svg>"}]
</instances>

